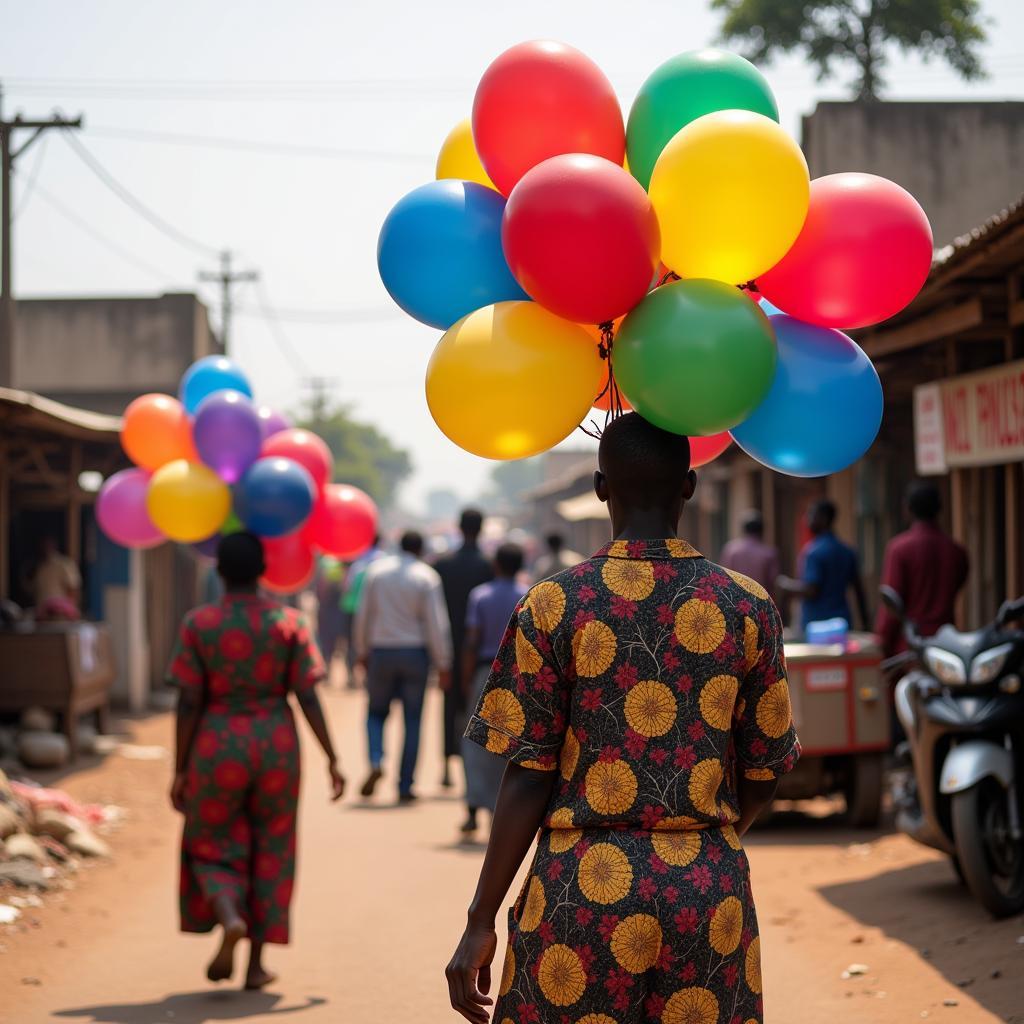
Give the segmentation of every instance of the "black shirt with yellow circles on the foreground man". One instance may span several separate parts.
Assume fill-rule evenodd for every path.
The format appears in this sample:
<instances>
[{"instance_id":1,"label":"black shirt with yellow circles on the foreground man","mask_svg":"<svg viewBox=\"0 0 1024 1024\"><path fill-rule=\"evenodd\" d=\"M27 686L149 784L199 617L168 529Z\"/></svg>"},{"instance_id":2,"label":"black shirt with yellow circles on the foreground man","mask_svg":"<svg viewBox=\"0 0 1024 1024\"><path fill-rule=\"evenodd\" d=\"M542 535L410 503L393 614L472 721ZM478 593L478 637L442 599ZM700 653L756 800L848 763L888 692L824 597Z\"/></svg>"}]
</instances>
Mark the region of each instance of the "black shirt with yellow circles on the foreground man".
<instances>
[{"instance_id":1,"label":"black shirt with yellow circles on the foreground man","mask_svg":"<svg viewBox=\"0 0 1024 1024\"><path fill-rule=\"evenodd\" d=\"M519 603L466 735L558 771L545 826L738 819L800 756L775 605L684 541L615 541Z\"/></svg>"}]
</instances>

